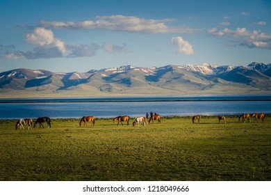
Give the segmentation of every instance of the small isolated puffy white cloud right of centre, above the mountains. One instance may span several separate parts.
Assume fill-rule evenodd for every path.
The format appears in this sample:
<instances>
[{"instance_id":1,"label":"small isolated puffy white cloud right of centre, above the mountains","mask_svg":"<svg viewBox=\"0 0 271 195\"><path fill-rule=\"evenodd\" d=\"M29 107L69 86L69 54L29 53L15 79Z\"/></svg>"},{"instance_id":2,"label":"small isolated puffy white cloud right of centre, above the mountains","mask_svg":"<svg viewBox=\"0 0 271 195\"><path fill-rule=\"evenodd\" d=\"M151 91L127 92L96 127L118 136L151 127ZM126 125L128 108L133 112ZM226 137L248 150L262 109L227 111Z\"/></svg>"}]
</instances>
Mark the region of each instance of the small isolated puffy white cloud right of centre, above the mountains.
<instances>
[{"instance_id":1,"label":"small isolated puffy white cloud right of centre, above the mountains","mask_svg":"<svg viewBox=\"0 0 271 195\"><path fill-rule=\"evenodd\" d=\"M190 43L186 40L183 40L183 38L181 38L181 36L177 36L171 39L171 43L173 45L175 45L176 47L176 53L178 54L193 54L194 51L192 49L192 45L190 45Z\"/></svg>"}]
</instances>

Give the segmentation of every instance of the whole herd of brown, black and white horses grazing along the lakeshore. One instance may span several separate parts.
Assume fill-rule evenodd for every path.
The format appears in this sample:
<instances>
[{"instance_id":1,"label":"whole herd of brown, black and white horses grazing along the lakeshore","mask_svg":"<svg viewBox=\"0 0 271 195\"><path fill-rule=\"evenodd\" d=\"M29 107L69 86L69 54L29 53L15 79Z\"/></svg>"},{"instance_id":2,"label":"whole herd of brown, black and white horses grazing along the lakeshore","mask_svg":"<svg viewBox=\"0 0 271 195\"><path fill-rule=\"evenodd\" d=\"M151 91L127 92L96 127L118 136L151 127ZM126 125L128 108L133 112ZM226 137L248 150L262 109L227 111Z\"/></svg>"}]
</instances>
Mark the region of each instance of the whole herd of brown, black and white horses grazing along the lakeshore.
<instances>
[{"instance_id":1,"label":"whole herd of brown, black and white horses grazing along the lakeshore","mask_svg":"<svg viewBox=\"0 0 271 195\"><path fill-rule=\"evenodd\" d=\"M202 116L201 115L196 115L196 116L192 116L192 123L195 123L197 121L197 123L200 122ZM247 122L252 122L252 120L254 119L254 123L257 122L258 123L258 119L261 119L262 122L264 122L264 118L265 118L265 114L261 113L261 114L252 114L252 119L250 117L249 114L241 114L239 116L239 121L243 121L243 123L245 123L245 120L247 120ZM120 123L123 125L122 122L127 122L127 125L129 125L129 120L130 117L129 116L117 116L115 118L113 118L113 123L115 123L115 121L117 121L117 125L119 125ZM161 116L159 114L154 114L149 118L149 124L150 123L154 123L154 120L157 120L158 123L161 123ZM224 123L226 124L226 116L218 116L218 123L220 123L222 121L224 121ZM133 127L136 126L136 123L138 123L138 127L140 126L140 123L142 123L143 126L145 126L147 121L147 118L145 118L144 116L140 116L140 117L136 117L133 120ZM44 117L40 117L37 118L37 120L35 120L34 123L34 128L37 124L40 125L40 127L44 127L42 125L42 123L47 123L47 127L51 128L51 119L47 116ZM87 122L91 122L90 126L94 126L95 125L95 117L94 116L83 116L80 120L79 126L82 126L82 123L84 126L87 126ZM32 129L32 123L33 120L31 118L21 118L19 120L17 120L17 123L15 125L15 129L17 130L18 127L19 129L24 129L24 125L28 125L28 130Z\"/></svg>"}]
</instances>

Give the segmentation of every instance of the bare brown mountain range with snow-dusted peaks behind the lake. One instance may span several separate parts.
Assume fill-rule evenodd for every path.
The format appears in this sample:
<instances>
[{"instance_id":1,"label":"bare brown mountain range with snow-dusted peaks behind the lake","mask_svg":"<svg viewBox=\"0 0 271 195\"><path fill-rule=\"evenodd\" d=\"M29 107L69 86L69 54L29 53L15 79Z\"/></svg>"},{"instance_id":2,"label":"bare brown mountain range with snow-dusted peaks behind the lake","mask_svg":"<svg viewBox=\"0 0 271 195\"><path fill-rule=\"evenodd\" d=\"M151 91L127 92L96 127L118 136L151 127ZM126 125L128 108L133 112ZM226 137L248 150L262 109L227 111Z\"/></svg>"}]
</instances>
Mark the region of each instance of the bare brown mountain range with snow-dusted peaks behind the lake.
<instances>
[{"instance_id":1,"label":"bare brown mountain range with snow-dusted peaks behind the lake","mask_svg":"<svg viewBox=\"0 0 271 195\"><path fill-rule=\"evenodd\" d=\"M0 73L1 98L113 95L244 95L271 91L271 63L249 65L124 65L89 72L19 68Z\"/></svg>"}]
</instances>

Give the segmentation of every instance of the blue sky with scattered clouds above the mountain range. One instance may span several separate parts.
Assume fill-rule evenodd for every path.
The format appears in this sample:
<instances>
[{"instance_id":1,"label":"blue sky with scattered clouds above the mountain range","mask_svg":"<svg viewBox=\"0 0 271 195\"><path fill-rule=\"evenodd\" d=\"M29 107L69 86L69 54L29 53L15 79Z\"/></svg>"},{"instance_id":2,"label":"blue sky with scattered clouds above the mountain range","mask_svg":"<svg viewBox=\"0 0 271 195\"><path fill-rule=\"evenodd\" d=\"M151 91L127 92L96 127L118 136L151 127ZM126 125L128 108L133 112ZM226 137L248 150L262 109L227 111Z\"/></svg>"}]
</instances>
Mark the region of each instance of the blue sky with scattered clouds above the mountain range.
<instances>
[{"instance_id":1,"label":"blue sky with scattered clouds above the mountain range","mask_svg":"<svg viewBox=\"0 0 271 195\"><path fill-rule=\"evenodd\" d=\"M271 1L0 0L0 72L271 63Z\"/></svg>"}]
</instances>

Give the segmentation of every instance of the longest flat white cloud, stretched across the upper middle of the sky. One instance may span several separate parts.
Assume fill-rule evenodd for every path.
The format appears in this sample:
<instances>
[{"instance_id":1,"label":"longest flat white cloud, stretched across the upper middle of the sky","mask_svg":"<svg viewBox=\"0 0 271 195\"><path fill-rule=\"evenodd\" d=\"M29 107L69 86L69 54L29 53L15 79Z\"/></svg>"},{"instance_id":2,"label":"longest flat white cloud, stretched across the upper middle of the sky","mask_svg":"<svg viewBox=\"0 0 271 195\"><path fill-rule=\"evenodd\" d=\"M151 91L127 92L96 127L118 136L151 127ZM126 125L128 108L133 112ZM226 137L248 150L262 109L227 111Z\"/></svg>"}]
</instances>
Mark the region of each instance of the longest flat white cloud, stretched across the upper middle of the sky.
<instances>
[{"instance_id":1,"label":"longest flat white cloud, stretched across the upper middle of the sky","mask_svg":"<svg viewBox=\"0 0 271 195\"><path fill-rule=\"evenodd\" d=\"M195 29L185 26L167 26L167 22L174 19L145 20L135 16L110 15L98 16L97 20L85 20L83 22L46 22L42 21L44 28L55 29L104 29L108 31L129 31L137 33L190 33Z\"/></svg>"}]
</instances>

